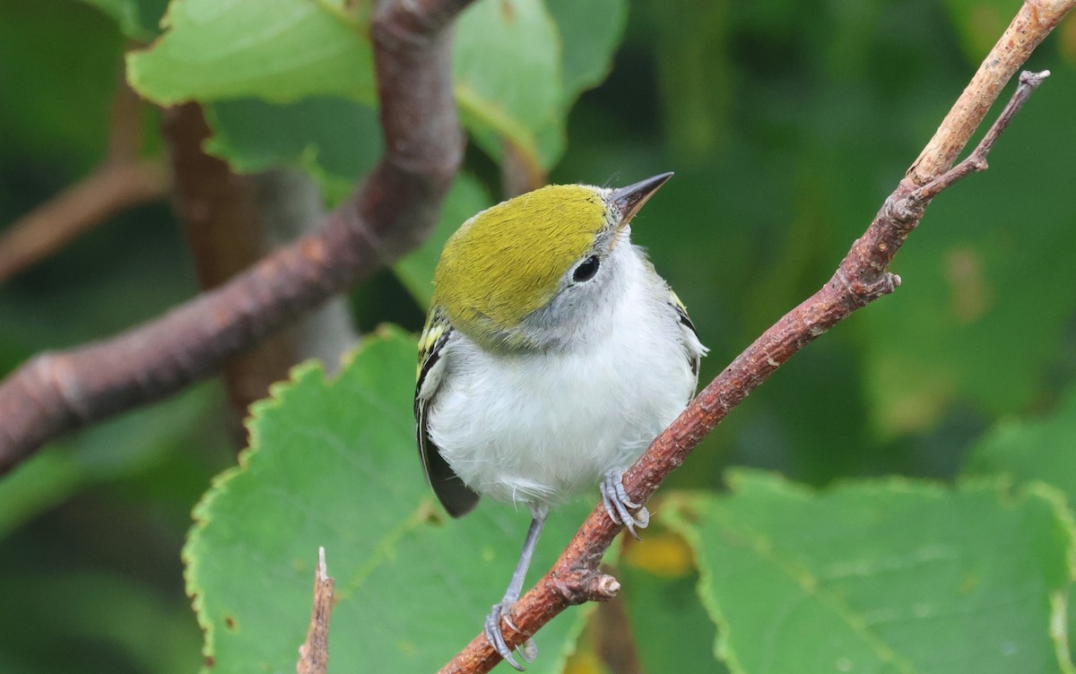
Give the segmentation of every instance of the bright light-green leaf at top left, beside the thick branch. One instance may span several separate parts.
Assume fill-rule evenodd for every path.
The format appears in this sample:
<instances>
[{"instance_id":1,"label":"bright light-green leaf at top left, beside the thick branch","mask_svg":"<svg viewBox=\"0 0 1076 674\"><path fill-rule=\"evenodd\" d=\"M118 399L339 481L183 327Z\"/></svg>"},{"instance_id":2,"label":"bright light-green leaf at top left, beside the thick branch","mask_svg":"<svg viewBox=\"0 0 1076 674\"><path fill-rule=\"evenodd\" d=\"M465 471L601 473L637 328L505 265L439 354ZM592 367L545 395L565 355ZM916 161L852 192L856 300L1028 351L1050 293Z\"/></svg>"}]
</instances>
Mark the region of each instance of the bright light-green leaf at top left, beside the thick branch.
<instances>
[{"instance_id":1,"label":"bright light-green leaf at top left, beside the thick branch","mask_svg":"<svg viewBox=\"0 0 1076 674\"><path fill-rule=\"evenodd\" d=\"M338 96L372 104L364 23L311 0L185 0L152 48L127 57L131 86L168 105L256 97L294 102Z\"/></svg>"}]
</instances>

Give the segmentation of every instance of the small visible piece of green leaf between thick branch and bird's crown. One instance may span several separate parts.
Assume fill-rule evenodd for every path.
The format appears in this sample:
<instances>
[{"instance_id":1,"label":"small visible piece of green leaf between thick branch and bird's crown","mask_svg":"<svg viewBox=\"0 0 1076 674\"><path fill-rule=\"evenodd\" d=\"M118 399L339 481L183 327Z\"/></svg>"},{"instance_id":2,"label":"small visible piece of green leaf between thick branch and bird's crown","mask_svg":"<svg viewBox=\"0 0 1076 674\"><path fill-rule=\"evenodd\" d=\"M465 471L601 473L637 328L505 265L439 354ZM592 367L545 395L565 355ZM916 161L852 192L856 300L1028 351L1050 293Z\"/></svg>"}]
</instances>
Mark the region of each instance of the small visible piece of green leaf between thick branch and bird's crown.
<instances>
[{"instance_id":1,"label":"small visible piece of green leaf between thick branch and bird's crown","mask_svg":"<svg viewBox=\"0 0 1076 674\"><path fill-rule=\"evenodd\" d=\"M490 205L490 195L470 173L461 172L449 190L441 207L437 227L422 246L396 262L393 271L420 306L429 306L434 296L434 270L441 257L441 248L459 226L476 213Z\"/></svg>"}]
</instances>

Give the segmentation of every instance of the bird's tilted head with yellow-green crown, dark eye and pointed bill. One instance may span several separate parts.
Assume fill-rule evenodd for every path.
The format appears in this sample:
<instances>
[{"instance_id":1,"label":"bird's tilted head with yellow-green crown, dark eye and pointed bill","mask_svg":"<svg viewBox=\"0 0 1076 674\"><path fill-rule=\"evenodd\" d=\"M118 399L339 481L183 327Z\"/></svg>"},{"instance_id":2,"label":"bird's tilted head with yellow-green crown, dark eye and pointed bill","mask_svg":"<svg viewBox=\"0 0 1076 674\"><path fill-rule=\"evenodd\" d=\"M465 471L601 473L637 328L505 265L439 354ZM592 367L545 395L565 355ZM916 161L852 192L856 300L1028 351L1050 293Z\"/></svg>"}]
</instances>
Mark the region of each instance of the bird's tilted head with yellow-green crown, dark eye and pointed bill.
<instances>
[{"instance_id":1,"label":"bird's tilted head with yellow-green crown, dark eye and pointed bill","mask_svg":"<svg viewBox=\"0 0 1076 674\"><path fill-rule=\"evenodd\" d=\"M620 189L551 185L475 215L449 239L434 301L491 350L540 349L568 339L615 292L627 226L671 173Z\"/></svg>"}]
</instances>

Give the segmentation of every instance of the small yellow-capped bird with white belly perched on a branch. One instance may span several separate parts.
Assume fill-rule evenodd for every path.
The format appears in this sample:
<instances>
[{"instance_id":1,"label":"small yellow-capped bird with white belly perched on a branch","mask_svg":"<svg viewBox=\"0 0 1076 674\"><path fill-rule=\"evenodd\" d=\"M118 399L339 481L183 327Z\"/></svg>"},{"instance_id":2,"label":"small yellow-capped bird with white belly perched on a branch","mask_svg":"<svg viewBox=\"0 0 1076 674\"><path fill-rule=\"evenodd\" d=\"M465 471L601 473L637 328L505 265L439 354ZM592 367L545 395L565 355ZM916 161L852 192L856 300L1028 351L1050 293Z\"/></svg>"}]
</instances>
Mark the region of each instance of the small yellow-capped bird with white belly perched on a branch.
<instances>
[{"instance_id":1,"label":"small yellow-capped bird with white belly perched on a branch","mask_svg":"<svg viewBox=\"0 0 1076 674\"><path fill-rule=\"evenodd\" d=\"M479 496L533 517L501 634L550 506L598 484L633 535L649 513L623 471L691 400L706 347L683 304L632 244L629 221L664 173L620 189L552 185L482 211L449 239L419 341L419 454L453 517ZM533 659L533 649L520 651Z\"/></svg>"}]
</instances>

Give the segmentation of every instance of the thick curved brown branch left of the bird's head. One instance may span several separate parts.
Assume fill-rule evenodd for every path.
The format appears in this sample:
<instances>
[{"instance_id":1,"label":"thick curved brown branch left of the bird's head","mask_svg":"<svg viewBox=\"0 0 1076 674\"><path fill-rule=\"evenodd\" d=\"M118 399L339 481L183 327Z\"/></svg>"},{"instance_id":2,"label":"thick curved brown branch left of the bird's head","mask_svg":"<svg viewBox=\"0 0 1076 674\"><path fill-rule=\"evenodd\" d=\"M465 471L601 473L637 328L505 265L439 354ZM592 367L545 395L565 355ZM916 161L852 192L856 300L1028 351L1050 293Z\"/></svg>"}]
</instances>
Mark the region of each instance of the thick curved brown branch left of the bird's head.
<instances>
[{"instance_id":1,"label":"thick curved brown branch left of the bird's head","mask_svg":"<svg viewBox=\"0 0 1076 674\"><path fill-rule=\"evenodd\" d=\"M449 25L468 0L380 2L370 20L385 154L323 229L119 336L0 383L0 473L42 443L159 400L415 247L463 157Z\"/></svg>"}]
</instances>

